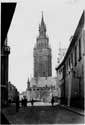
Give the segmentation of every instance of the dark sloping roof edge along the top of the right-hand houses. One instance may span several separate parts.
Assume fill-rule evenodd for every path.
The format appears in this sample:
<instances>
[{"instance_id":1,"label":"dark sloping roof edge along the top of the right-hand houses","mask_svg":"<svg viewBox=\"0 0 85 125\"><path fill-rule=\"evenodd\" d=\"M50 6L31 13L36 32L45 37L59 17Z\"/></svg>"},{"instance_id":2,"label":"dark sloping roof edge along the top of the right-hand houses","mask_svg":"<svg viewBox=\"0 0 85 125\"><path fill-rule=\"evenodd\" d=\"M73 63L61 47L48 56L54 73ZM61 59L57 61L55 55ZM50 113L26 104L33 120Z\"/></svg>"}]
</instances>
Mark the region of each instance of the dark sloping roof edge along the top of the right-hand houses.
<instances>
[{"instance_id":1,"label":"dark sloping roof edge along the top of the right-hand houses","mask_svg":"<svg viewBox=\"0 0 85 125\"><path fill-rule=\"evenodd\" d=\"M63 61L59 64L59 66L56 67L56 70L58 70L64 64L64 62L65 62L66 58L68 57L72 47L74 46L76 40L78 39L78 36L79 36L82 28L84 27L84 25L85 25L85 10L83 11L82 16L81 16L81 18L79 20L78 26L77 26L77 28L75 30L75 33L74 33L73 37L72 37L70 45L69 45L69 47L67 49L67 52L65 54L65 57L64 57Z\"/></svg>"}]
</instances>

